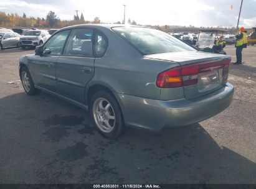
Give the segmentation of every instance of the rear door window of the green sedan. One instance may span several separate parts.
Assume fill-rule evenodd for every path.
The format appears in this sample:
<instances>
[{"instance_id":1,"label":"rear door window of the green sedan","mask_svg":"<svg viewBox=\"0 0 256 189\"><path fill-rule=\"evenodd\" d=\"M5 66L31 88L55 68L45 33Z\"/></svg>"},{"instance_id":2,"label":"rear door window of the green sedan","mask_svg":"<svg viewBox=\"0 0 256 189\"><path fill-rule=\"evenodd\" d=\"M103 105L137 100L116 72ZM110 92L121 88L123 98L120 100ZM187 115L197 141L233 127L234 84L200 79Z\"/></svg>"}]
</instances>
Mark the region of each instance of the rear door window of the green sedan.
<instances>
[{"instance_id":1,"label":"rear door window of the green sedan","mask_svg":"<svg viewBox=\"0 0 256 189\"><path fill-rule=\"evenodd\" d=\"M73 29L63 54L92 57L92 30Z\"/></svg>"}]
</instances>

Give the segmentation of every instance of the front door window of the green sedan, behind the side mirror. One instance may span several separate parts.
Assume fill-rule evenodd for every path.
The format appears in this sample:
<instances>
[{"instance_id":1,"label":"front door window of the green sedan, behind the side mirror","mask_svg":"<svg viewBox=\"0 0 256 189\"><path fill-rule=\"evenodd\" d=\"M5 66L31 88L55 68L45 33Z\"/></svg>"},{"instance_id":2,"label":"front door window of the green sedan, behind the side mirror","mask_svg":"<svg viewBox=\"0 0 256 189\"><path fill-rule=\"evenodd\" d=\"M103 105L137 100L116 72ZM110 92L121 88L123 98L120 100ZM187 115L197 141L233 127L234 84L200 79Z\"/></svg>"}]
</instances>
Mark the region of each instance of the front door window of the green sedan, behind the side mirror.
<instances>
[{"instance_id":1,"label":"front door window of the green sedan, behind the side mirror","mask_svg":"<svg viewBox=\"0 0 256 189\"><path fill-rule=\"evenodd\" d=\"M44 45L44 55L60 55L70 30L65 30L53 35Z\"/></svg>"}]
</instances>

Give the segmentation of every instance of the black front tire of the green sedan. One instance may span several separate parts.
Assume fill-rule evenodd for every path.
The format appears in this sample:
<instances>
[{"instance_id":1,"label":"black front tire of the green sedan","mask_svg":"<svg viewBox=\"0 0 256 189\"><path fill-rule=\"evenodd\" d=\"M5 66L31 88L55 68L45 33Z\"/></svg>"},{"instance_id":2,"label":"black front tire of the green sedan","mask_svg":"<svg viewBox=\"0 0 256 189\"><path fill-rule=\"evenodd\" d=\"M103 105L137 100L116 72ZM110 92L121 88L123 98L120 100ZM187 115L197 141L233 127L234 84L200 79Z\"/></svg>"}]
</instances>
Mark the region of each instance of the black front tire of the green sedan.
<instances>
[{"instance_id":1,"label":"black front tire of the green sedan","mask_svg":"<svg viewBox=\"0 0 256 189\"><path fill-rule=\"evenodd\" d=\"M30 85L29 88L27 88L26 83L24 81L25 74L28 77L28 81L29 81L29 85ZM29 70L27 69L27 67L22 67L21 68L20 78L21 78L21 82L22 82L22 86L24 88L24 91L27 94L34 95L34 94L40 93L40 90L35 88L34 82L33 82L32 78L31 78L31 74L29 73Z\"/></svg>"}]
</instances>

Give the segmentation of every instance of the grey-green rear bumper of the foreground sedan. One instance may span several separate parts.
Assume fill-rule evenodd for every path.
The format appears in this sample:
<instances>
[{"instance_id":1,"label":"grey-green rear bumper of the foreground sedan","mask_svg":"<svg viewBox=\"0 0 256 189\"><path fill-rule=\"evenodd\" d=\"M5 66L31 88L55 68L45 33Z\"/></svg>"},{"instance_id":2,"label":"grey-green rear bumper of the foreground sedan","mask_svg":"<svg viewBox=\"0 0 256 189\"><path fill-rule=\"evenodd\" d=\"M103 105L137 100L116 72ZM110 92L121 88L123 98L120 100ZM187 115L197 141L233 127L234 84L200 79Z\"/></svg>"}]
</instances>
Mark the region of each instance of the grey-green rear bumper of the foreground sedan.
<instances>
[{"instance_id":1,"label":"grey-green rear bumper of the foreground sedan","mask_svg":"<svg viewBox=\"0 0 256 189\"><path fill-rule=\"evenodd\" d=\"M117 98L127 126L159 131L211 118L229 107L233 95L234 86L226 83L219 90L195 99L161 101L127 94L117 94Z\"/></svg>"}]
</instances>

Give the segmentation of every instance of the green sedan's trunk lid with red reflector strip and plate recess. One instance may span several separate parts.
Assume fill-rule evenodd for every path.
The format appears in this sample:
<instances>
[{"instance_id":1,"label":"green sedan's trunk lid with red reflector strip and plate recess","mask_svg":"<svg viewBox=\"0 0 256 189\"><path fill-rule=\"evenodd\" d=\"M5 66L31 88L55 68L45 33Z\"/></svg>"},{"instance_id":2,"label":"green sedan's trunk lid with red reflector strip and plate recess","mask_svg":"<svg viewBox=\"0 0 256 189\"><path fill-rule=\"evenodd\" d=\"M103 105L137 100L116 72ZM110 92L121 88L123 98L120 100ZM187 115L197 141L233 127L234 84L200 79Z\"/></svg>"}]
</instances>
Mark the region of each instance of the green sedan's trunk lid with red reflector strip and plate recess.
<instances>
[{"instance_id":1,"label":"green sedan's trunk lid with red reflector strip and plate recess","mask_svg":"<svg viewBox=\"0 0 256 189\"><path fill-rule=\"evenodd\" d=\"M211 93L227 83L230 63L227 55L192 51L159 53L146 57L179 63L181 85L187 99Z\"/></svg>"}]
</instances>

